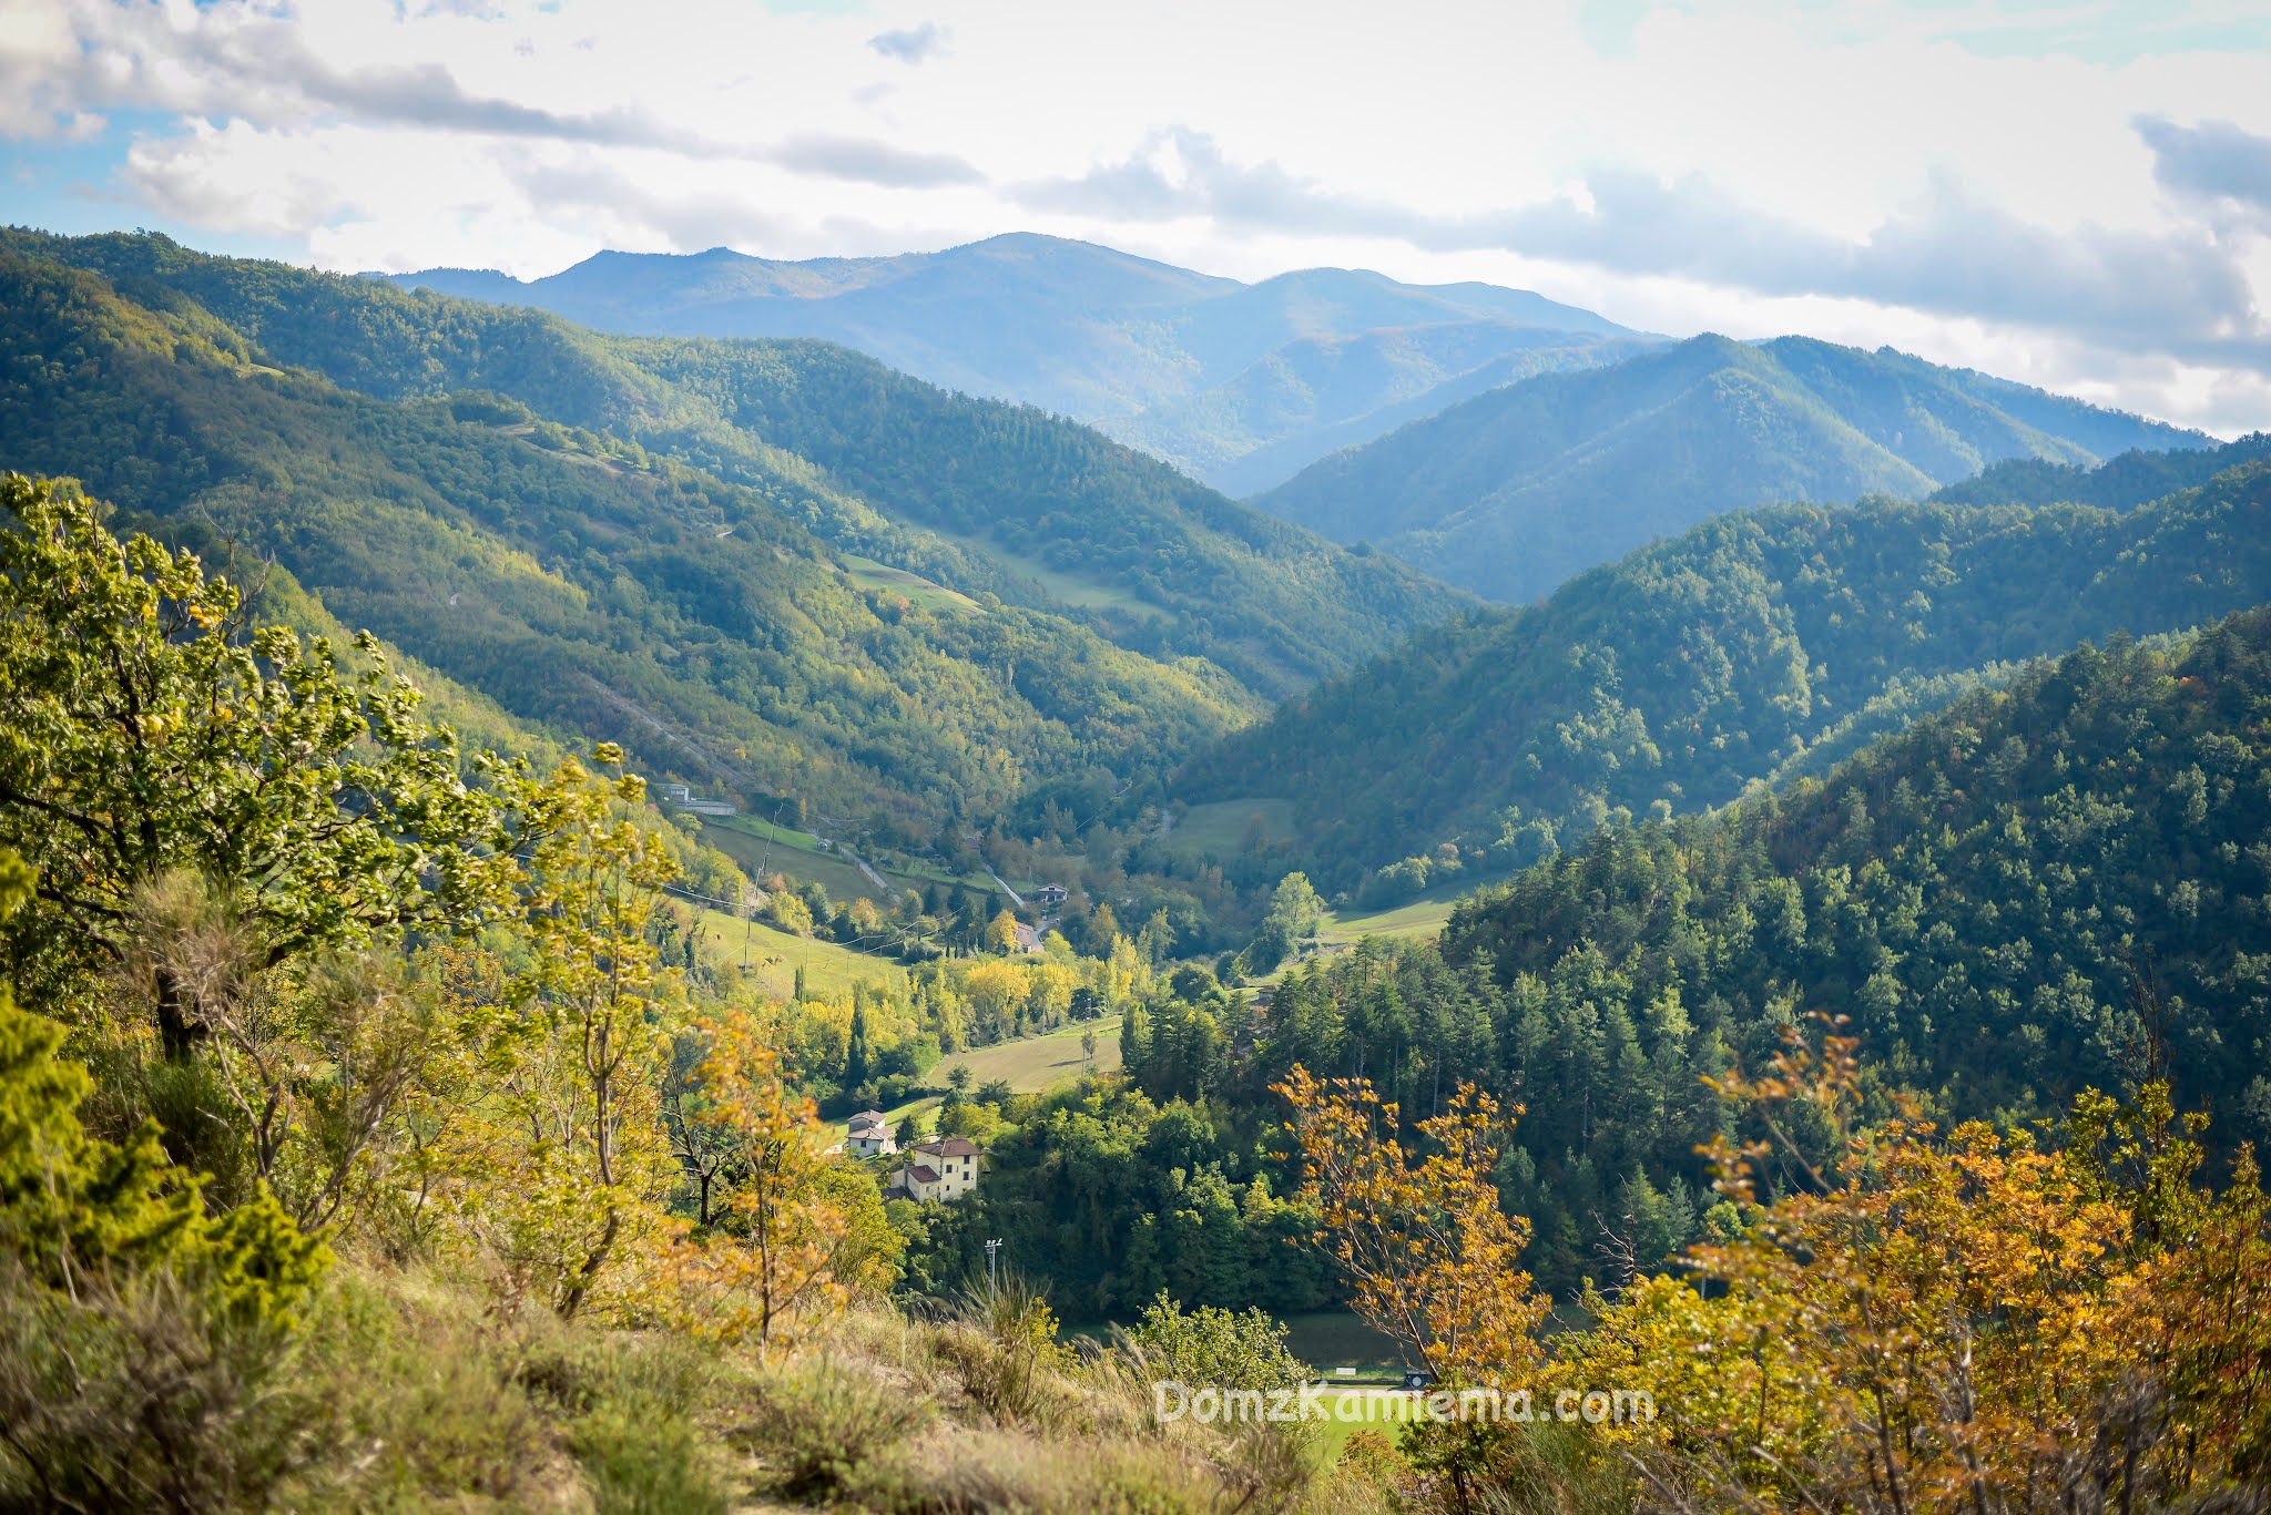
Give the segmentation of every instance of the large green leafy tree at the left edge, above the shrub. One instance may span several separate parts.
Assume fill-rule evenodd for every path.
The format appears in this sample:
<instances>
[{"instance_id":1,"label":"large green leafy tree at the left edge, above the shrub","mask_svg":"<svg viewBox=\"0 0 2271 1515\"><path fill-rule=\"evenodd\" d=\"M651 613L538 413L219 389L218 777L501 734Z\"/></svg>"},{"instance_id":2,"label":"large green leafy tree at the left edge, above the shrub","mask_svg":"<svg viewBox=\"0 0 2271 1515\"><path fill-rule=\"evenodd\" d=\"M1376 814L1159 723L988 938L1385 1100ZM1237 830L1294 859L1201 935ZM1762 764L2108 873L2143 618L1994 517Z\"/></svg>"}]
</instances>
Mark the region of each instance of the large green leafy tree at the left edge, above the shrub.
<instances>
[{"instance_id":1,"label":"large green leafy tree at the left edge, above the shrub","mask_svg":"<svg viewBox=\"0 0 2271 1515\"><path fill-rule=\"evenodd\" d=\"M466 924L502 897L497 802L379 645L248 634L191 552L114 538L75 488L0 477L0 845L36 870L16 986L64 997L127 956L134 890L193 872L263 968ZM207 1036L157 970L166 1054Z\"/></svg>"}]
</instances>

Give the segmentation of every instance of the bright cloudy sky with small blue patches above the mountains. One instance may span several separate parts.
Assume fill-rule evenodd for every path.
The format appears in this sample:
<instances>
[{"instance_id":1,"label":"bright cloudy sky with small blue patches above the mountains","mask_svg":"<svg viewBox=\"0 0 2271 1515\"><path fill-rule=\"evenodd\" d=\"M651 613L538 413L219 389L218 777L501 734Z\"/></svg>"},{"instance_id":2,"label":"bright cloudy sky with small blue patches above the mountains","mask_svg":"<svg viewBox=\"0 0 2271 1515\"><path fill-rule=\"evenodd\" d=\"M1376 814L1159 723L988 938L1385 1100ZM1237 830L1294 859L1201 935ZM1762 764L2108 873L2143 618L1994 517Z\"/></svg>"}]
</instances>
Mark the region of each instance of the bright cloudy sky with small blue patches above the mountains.
<instances>
[{"instance_id":1,"label":"bright cloudy sky with small blue patches above the mountains","mask_svg":"<svg viewBox=\"0 0 2271 1515\"><path fill-rule=\"evenodd\" d=\"M2271 0L0 0L0 218L334 270L1049 232L2271 429Z\"/></svg>"}]
</instances>

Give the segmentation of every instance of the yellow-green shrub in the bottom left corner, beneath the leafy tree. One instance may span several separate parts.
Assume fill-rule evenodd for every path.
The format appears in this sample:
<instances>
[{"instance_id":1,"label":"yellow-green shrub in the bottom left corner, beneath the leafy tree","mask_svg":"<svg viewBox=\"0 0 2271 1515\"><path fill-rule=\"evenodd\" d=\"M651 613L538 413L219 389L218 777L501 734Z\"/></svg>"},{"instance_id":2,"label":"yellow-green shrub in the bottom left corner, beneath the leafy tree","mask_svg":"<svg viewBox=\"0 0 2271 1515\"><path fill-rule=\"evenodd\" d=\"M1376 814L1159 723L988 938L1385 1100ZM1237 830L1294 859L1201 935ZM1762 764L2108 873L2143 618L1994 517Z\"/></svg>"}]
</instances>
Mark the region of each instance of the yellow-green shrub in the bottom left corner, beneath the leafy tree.
<instances>
[{"instance_id":1,"label":"yellow-green shrub in the bottom left corner, beneath the leafy tree","mask_svg":"<svg viewBox=\"0 0 2271 1515\"><path fill-rule=\"evenodd\" d=\"M0 1504L250 1508L311 1445L329 1265L266 1190L211 1217L157 1129L89 1136L61 1027L0 995Z\"/></svg>"}]
</instances>

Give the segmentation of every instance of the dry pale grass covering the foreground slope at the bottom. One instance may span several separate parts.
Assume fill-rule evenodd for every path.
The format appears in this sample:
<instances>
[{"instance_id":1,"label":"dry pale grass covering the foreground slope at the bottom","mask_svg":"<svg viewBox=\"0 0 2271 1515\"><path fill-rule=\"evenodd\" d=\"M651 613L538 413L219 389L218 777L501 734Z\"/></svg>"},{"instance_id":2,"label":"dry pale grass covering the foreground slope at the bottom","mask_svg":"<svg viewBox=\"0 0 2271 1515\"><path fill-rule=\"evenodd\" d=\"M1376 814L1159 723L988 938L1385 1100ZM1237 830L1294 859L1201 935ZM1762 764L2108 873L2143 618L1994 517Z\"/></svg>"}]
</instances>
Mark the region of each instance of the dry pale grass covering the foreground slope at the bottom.
<instances>
[{"instance_id":1,"label":"dry pale grass covering the foreground slope at the bottom","mask_svg":"<svg viewBox=\"0 0 2271 1515\"><path fill-rule=\"evenodd\" d=\"M200 1508L1378 1508L1301 1436L1160 1426L1140 1363L1072 1351L1026 1308L1038 1301L1004 1295L936 1317L870 1299L795 1351L761 1354L504 1313L481 1279L347 1261L309 1338L279 1358L288 1404L307 1408L291 1454L257 1490L211 1490Z\"/></svg>"}]
</instances>

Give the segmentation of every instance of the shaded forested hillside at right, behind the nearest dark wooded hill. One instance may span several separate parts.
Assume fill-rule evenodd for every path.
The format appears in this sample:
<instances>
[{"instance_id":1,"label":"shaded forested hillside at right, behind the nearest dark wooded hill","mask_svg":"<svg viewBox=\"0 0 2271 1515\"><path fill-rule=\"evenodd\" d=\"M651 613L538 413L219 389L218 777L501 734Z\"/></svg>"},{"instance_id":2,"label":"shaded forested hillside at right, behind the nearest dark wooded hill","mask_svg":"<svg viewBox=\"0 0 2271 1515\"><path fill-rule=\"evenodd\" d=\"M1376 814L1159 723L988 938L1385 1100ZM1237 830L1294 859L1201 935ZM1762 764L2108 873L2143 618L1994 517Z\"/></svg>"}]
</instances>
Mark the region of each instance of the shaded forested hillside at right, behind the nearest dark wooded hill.
<instances>
[{"instance_id":1,"label":"shaded forested hillside at right, behind the nearest dark wooded hill","mask_svg":"<svg viewBox=\"0 0 2271 1515\"><path fill-rule=\"evenodd\" d=\"M1179 793L1290 800L1285 863L1329 888L1385 865L1385 899L1531 863L1615 806L1724 804L1994 663L2264 600L2262 461L2135 511L1744 511L1542 606L1422 631L1195 759Z\"/></svg>"}]
</instances>

